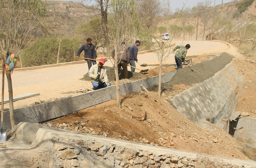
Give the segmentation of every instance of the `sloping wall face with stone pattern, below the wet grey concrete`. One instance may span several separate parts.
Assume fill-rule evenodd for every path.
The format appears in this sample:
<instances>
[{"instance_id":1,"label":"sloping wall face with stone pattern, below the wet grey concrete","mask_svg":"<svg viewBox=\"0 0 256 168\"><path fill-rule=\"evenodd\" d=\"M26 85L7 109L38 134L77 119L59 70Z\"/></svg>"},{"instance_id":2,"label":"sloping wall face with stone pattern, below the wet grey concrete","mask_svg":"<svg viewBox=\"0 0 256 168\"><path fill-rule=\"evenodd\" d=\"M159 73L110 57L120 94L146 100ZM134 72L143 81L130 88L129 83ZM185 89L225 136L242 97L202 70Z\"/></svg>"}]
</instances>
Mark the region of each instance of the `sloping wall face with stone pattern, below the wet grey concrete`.
<instances>
[{"instance_id":1,"label":"sloping wall face with stone pattern, below the wet grey concrete","mask_svg":"<svg viewBox=\"0 0 256 168\"><path fill-rule=\"evenodd\" d=\"M168 101L194 123L202 120L216 123L222 117L228 118L236 109L238 82L238 74L229 63L213 77Z\"/></svg>"}]
</instances>

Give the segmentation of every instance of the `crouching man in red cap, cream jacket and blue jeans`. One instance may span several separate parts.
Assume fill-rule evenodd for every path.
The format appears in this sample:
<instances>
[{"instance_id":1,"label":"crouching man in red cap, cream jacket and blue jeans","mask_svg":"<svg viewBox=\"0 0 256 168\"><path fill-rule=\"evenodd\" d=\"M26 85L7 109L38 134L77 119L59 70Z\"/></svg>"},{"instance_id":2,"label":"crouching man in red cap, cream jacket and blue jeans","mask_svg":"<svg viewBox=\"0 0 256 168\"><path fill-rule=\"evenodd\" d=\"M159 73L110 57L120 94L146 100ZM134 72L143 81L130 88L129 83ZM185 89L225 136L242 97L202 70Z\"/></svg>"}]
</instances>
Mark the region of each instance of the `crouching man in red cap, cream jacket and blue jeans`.
<instances>
[{"instance_id":1,"label":"crouching man in red cap, cream jacket and blue jeans","mask_svg":"<svg viewBox=\"0 0 256 168\"><path fill-rule=\"evenodd\" d=\"M88 74L91 78L92 86L94 89L106 88L111 83L108 81L107 70L103 66L105 59L101 58L98 64L92 65Z\"/></svg>"}]
</instances>

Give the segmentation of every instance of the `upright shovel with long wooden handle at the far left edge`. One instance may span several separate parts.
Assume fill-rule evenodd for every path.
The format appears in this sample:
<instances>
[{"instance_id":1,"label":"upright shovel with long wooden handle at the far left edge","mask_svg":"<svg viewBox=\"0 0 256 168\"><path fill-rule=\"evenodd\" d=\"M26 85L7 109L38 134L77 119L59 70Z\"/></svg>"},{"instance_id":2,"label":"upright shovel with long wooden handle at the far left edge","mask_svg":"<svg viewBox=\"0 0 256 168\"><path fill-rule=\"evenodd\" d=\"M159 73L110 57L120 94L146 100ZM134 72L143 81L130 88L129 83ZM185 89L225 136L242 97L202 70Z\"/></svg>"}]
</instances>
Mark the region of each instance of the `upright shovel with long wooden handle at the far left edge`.
<instances>
[{"instance_id":1,"label":"upright shovel with long wooden handle at the far left edge","mask_svg":"<svg viewBox=\"0 0 256 168\"><path fill-rule=\"evenodd\" d=\"M4 84L5 84L5 63L3 62L3 76L2 76L2 111L1 111L1 122L0 122L0 141L6 141L7 129L3 128L3 103L4 103Z\"/></svg>"}]
</instances>

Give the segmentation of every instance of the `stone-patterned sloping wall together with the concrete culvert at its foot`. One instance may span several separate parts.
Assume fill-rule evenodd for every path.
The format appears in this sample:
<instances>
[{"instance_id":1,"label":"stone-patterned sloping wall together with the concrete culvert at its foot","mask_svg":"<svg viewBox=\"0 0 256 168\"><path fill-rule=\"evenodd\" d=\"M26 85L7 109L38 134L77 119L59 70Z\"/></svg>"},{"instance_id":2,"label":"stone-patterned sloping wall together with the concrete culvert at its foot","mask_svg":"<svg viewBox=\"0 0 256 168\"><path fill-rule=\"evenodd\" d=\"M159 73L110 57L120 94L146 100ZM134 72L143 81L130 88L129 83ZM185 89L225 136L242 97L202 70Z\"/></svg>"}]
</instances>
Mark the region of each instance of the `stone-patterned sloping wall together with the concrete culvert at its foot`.
<instances>
[{"instance_id":1,"label":"stone-patterned sloping wall together with the concrete culvert at its foot","mask_svg":"<svg viewBox=\"0 0 256 168\"><path fill-rule=\"evenodd\" d=\"M168 101L195 124L216 124L247 146L256 148L256 120L241 118L235 111L240 78L232 63L211 78L174 96Z\"/></svg>"}]
</instances>

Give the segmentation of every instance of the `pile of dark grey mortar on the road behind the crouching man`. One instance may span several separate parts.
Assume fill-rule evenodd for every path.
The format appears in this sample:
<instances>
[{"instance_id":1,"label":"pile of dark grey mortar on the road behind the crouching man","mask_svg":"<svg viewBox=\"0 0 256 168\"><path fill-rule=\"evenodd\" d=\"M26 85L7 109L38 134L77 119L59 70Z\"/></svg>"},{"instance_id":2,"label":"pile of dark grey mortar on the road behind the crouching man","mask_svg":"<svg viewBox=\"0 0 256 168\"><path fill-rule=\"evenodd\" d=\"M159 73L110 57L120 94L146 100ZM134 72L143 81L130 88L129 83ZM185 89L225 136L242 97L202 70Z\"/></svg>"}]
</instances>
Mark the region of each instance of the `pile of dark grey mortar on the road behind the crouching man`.
<instances>
[{"instance_id":1,"label":"pile of dark grey mortar on the road behind the crouching man","mask_svg":"<svg viewBox=\"0 0 256 168\"><path fill-rule=\"evenodd\" d=\"M104 66L104 67L107 70L108 80L110 82L115 81L115 69L114 69L114 67L108 67L108 66ZM124 77L123 69L121 69L120 72L119 72L119 80L124 79L124 78L125 77ZM128 78L129 79L142 78L142 74L140 74L138 72L131 72L131 71L128 70ZM88 72L80 80L90 81L91 79L88 75Z\"/></svg>"}]
</instances>

